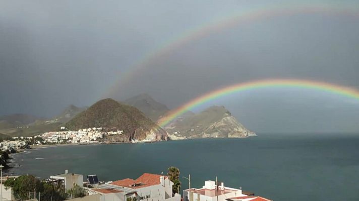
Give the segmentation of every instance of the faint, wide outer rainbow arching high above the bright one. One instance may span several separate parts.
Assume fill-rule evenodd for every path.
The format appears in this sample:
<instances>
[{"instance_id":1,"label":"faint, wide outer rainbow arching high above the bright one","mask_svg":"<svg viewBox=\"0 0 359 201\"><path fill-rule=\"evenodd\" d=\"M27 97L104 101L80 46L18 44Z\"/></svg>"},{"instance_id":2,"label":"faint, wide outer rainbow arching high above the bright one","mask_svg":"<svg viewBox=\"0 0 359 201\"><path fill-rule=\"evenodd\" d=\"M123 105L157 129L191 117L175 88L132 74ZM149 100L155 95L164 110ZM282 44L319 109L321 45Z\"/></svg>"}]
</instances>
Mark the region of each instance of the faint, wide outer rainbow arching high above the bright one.
<instances>
[{"instance_id":1,"label":"faint, wide outer rainbow arching high above the bright one","mask_svg":"<svg viewBox=\"0 0 359 201\"><path fill-rule=\"evenodd\" d=\"M357 4L340 4L321 2L315 3L310 1L309 3L300 4L281 4L277 5L265 5L255 7L252 9L241 10L228 16L220 16L216 19L210 20L208 23L201 24L188 31L182 32L177 36L165 41L159 47L150 50L147 54L134 62L127 71L122 73L122 76L115 84L110 87L104 96L111 96L118 86L125 85L127 82L134 79L136 75L141 73L141 70L146 69L149 64L157 61L159 58L164 58L168 53L173 50L188 44L191 41L199 40L210 34L223 31L225 29L237 26L244 23L252 23L260 20L266 20L272 17L280 16L292 16L298 14L320 14L329 16L350 16L359 17L358 5ZM121 84L119 84L121 82Z\"/></svg>"}]
</instances>

